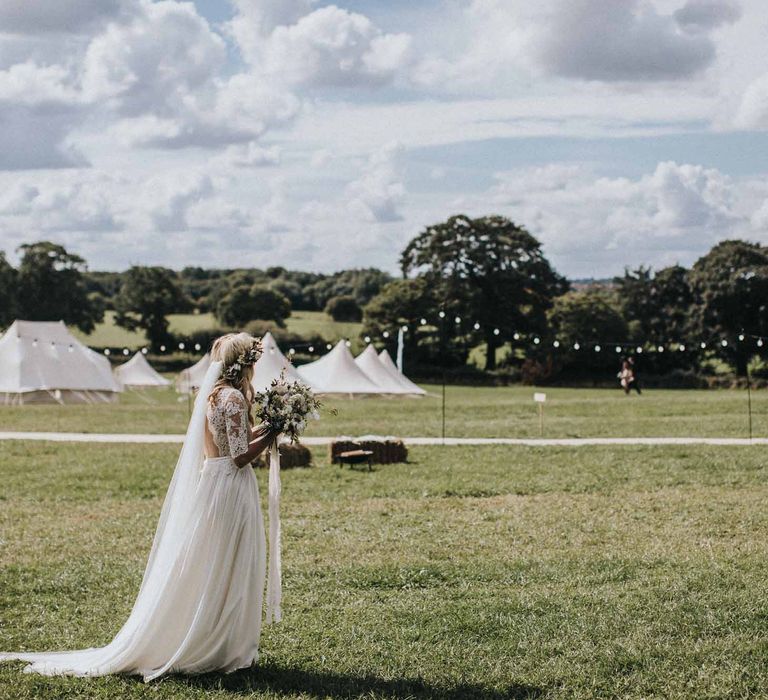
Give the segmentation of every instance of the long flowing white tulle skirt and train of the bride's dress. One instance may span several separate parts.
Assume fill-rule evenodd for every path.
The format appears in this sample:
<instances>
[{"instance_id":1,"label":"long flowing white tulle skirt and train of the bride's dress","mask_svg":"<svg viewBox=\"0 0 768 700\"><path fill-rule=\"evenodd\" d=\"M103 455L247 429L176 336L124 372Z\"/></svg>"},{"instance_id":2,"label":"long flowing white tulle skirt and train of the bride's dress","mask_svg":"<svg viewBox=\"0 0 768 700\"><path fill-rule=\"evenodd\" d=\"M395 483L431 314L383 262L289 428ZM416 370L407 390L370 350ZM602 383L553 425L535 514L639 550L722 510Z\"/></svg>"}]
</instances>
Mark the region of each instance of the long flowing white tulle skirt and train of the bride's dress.
<instances>
[{"instance_id":1,"label":"long flowing white tulle skirt and train of the bride's dress","mask_svg":"<svg viewBox=\"0 0 768 700\"><path fill-rule=\"evenodd\" d=\"M166 673L230 672L253 664L266 578L253 470L238 468L229 457L205 460L191 506L188 536L162 590L152 592L153 614L137 610L145 604L139 595L131 617L105 647L0 653L0 661L29 661L26 673L127 673L147 681Z\"/></svg>"}]
</instances>

